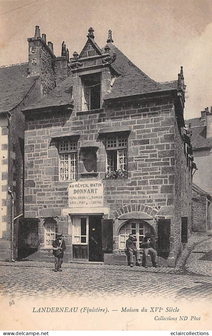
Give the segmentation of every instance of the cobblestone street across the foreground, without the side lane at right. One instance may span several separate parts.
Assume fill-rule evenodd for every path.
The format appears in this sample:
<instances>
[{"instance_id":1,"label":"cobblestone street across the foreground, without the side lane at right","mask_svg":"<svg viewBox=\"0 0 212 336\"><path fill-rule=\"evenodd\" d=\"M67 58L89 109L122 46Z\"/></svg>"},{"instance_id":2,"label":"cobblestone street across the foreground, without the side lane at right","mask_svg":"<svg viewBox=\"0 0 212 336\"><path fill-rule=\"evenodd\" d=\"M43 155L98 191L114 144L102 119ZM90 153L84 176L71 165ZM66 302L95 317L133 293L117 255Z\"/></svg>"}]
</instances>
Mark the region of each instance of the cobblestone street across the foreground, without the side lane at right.
<instances>
[{"instance_id":1,"label":"cobblestone street across the foreground, without the side lane at right","mask_svg":"<svg viewBox=\"0 0 212 336\"><path fill-rule=\"evenodd\" d=\"M1 263L1 293L10 299L61 295L63 298L90 295L107 297L110 294L122 297L140 294L198 301L211 298L211 277L105 266L64 264L63 271L55 273L54 264L49 263L39 263L35 267L9 266L6 263L2 266Z\"/></svg>"}]
</instances>

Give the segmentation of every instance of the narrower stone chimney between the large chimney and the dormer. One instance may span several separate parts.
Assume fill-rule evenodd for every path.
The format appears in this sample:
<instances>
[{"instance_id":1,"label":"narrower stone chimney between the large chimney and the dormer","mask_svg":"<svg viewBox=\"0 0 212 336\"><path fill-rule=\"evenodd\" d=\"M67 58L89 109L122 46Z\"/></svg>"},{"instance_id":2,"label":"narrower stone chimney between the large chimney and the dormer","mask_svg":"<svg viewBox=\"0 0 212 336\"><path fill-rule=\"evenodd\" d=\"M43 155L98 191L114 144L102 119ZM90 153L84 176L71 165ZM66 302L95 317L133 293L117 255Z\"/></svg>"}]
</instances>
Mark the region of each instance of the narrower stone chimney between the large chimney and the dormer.
<instances>
[{"instance_id":1,"label":"narrower stone chimney between the large chimney and the dormer","mask_svg":"<svg viewBox=\"0 0 212 336\"><path fill-rule=\"evenodd\" d=\"M68 68L68 63L69 51L66 49L65 42L63 41L61 46L61 56L56 58L57 84L69 76L70 70Z\"/></svg>"}]
</instances>

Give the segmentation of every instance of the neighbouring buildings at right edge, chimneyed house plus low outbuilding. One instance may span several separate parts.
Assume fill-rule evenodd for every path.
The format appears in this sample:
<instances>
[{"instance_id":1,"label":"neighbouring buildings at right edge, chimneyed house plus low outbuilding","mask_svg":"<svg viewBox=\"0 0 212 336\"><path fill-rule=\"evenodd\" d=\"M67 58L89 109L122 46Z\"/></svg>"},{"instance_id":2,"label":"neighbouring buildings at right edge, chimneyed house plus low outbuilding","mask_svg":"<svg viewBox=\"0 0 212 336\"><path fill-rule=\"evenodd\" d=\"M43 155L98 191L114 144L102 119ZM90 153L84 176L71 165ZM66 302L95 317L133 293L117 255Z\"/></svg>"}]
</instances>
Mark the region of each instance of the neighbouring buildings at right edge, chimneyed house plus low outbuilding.
<instances>
[{"instance_id":1,"label":"neighbouring buildings at right edge, chimneyed house plus low outbuilding","mask_svg":"<svg viewBox=\"0 0 212 336\"><path fill-rule=\"evenodd\" d=\"M211 233L212 195L212 108L200 118L186 120L191 126L193 157L198 170L193 174L192 231Z\"/></svg>"}]
</instances>

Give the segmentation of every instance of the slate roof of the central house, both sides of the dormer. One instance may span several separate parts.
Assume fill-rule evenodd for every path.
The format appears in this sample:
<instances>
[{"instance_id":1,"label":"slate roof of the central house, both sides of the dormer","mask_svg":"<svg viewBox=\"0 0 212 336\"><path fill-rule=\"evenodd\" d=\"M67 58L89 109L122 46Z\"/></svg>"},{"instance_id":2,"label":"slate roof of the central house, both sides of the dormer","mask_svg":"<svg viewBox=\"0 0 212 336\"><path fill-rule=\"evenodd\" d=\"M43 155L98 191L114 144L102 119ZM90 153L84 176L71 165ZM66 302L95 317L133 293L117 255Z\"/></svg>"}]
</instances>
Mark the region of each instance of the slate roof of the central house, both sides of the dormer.
<instances>
[{"instance_id":1,"label":"slate roof of the central house, both sides of the dormer","mask_svg":"<svg viewBox=\"0 0 212 336\"><path fill-rule=\"evenodd\" d=\"M111 49L111 55L116 53L116 60L111 66L120 76L116 78L111 92L107 93L103 99L177 89L177 81L155 82L135 66L113 43L109 42L107 45ZM100 51L104 52L104 48ZM71 104L73 102L71 98L72 84L72 76L69 76L36 104L24 108L23 111Z\"/></svg>"}]
</instances>

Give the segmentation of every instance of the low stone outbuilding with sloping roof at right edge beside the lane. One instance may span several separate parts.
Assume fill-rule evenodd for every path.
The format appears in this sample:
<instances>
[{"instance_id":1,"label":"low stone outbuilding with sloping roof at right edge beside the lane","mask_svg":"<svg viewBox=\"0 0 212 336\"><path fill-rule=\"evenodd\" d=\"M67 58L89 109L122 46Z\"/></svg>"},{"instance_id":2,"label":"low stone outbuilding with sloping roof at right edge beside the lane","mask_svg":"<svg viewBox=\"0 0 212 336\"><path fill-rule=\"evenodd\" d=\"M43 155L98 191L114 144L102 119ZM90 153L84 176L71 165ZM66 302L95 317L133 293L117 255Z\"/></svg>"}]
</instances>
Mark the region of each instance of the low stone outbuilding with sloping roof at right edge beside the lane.
<instances>
[{"instance_id":1,"label":"low stone outbuilding with sloping roof at right edge beside the lane","mask_svg":"<svg viewBox=\"0 0 212 336\"><path fill-rule=\"evenodd\" d=\"M192 232L206 232L208 234L212 233L211 201L211 196L193 183L191 214Z\"/></svg>"}]
</instances>

